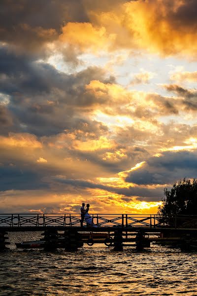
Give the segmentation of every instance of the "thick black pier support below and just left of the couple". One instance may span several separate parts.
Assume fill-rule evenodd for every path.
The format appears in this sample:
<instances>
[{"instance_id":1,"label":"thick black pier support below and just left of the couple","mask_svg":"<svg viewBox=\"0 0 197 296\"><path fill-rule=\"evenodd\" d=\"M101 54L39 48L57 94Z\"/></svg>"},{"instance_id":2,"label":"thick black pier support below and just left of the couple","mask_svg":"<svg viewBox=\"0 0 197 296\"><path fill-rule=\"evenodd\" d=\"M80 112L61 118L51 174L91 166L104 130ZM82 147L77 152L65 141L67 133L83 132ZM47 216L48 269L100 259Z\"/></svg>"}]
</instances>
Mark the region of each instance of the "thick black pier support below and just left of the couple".
<instances>
[{"instance_id":1,"label":"thick black pier support below and just left of the couple","mask_svg":"<svg viewBox=\"0 0 197 296\"><path fill-rule=\"evenodd\" d=\"M83 247L82 236L76 229L69 229L65 231L65 250L76 251Z\"/></svg>"}]
</instances>

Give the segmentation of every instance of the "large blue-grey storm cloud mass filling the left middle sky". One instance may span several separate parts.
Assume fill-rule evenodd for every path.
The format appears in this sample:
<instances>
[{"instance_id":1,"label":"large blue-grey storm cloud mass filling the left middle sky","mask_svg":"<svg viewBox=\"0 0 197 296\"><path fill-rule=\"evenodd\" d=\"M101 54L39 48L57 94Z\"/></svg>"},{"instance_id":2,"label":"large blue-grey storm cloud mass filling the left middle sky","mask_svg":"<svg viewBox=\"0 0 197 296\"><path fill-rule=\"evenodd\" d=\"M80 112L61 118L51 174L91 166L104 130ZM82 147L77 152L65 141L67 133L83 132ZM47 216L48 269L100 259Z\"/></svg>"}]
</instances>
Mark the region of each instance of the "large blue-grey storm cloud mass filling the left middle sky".
<instances>
[{"instance_id":1,"label":"large blue-grey storm cloud mass filling the left middle sky","mask_svg":"<svg viewBox=\"0 0 197 296\"><path fill-rule=\"evenodd\" d=\"M94 79L114 82L114 77L106 78L104 70L98 67L65 74L47 63L16 55L6 46L0 48L0 77L1 92L10 96L7 109L18 119L11 131L36 135L56 134L89 124L84 113L95 104L104 104L107 98L96 100L86 93L86 84Z\"/></svg>"}]
</instances>

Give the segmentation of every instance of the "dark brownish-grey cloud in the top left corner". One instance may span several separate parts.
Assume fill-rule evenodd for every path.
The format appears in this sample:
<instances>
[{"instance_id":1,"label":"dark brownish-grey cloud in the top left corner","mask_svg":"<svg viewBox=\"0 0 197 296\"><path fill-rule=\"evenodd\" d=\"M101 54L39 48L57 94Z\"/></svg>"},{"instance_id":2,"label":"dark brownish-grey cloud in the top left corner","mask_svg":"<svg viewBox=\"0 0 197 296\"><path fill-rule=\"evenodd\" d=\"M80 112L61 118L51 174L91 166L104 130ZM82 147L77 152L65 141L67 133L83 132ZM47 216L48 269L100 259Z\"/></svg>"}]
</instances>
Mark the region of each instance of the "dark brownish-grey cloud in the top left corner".
<instances>
[{"instance_id":1,"label":"dark brownish-grey cloud in the top left corner","mask_svg":"<svg viewBox=\"0 0 197 296\"><path fill-rule=\"evenodd\" d=\"M30 52L57 39L65 23L88 20L80 0L0 1L0 39Z\"/></svg>"}]
</instances>

